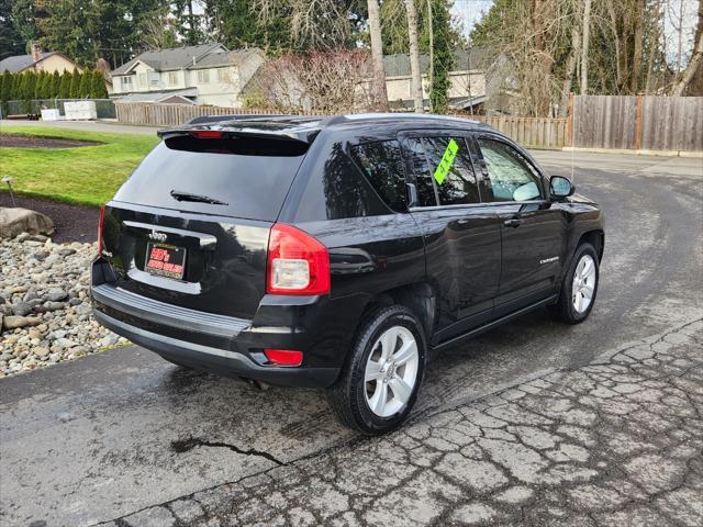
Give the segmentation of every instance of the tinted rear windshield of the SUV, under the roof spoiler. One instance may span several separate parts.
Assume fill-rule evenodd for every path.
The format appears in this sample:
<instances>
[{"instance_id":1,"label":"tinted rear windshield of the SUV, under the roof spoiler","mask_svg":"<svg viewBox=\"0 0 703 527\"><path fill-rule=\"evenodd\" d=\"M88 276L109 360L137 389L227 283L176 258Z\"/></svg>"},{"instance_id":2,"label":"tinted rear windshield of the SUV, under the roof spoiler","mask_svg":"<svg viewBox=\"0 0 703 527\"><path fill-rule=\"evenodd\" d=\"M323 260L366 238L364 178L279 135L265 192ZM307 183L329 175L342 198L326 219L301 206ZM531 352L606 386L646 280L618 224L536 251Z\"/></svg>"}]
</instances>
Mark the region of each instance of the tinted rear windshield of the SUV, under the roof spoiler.
<instances>
[{"instance_id":1,"label":"tinted rear windshield of the SUV, under the roof spoiler","mask_svg":"<svg viewBox=\"0 0 703 527\"><path fill-rule=\"evenodd\" d=\"M171 137L144 158L114 199L187 212L275 221L305 149L304 144L283 139ZM182 198L187 194L220 203L190 201Z\"/></svg>"}]
</instances>

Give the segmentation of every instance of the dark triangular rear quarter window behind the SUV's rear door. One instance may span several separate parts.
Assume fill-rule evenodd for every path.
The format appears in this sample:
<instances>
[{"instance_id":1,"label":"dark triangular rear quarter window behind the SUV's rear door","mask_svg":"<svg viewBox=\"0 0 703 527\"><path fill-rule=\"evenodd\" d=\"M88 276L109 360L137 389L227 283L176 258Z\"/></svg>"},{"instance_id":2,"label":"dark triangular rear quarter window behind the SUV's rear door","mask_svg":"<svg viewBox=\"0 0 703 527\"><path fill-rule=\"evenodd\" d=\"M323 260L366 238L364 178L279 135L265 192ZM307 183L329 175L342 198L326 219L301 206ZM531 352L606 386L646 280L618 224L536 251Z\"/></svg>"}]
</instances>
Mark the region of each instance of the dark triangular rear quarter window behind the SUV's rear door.
<instances>
[{"instance_id":1,"label":"dark triangular rear quarter window behind the SUV's rear door","mask_svg":"<svg viewBox=\"0 0 703 527\"><path fill-rule=\"evenodd\" d=\"M354 146L352 157L388 206L395 212L408 209L403 158L398 141L377 141Z\"/></svg>"}]
</instances>

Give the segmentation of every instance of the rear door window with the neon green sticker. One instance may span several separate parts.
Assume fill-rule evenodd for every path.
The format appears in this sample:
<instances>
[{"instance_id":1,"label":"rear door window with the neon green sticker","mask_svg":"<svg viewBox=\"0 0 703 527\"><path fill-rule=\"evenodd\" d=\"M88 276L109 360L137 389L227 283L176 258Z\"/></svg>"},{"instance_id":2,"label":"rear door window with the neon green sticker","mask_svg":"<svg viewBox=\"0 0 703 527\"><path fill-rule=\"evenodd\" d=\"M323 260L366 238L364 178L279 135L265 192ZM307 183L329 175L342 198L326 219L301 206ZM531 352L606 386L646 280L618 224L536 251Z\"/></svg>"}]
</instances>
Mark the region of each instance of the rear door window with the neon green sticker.
<instances>
[{"instance_id":1,"label":"rear door window with the neon green sticker","mask_svg":"<svg viewBox=\"0 0 703 527\"><path fill-rule=\"evenodd\" d=\"M466 142L461 137L422 139L440 205L478 203L476 173Z\"/></svg>"}]
</instances>

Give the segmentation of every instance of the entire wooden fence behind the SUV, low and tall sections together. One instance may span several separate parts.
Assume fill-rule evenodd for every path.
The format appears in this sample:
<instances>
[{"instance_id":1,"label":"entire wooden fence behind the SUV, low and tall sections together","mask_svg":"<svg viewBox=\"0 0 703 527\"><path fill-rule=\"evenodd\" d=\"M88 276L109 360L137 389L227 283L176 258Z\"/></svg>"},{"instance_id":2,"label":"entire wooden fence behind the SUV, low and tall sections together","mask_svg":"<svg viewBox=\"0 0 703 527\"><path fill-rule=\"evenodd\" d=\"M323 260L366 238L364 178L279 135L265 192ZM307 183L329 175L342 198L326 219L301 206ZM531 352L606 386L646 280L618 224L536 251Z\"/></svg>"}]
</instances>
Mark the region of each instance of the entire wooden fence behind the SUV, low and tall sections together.
<instances>
[{"instance_id":1,"label":"entire wooden fence behind the SUV, low and tall sections together","mask_svg":"<svg viewBox=\"0 0 703 527\"><path fill-rule=\"evenodd\" d=\"M203 115L276 114L190 104L118 102L125 124L176 126ZM301 112L315 115L314 112ZM458 115L467 117L467 115ZM647 149L703 152L702 97L571 97L568 119L472 116L532 148Z\"/></svg>"}]
</instances>

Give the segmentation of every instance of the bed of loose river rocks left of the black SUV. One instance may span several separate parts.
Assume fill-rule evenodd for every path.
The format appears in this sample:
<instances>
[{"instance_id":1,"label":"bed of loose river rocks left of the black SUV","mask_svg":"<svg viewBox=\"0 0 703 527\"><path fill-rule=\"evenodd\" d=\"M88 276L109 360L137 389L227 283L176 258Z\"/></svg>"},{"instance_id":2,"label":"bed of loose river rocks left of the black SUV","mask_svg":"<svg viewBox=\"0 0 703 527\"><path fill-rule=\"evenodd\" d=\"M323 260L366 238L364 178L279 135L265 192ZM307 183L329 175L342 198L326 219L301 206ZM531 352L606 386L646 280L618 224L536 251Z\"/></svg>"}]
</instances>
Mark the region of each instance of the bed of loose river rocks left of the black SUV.
<instances>
[{"instance_id":1,"label":"bed of loose river rocks left of the black SUV","mask_svg":"<svg viewBox=\"0 0 703 527\"><path fill-rule=\"evenodd\" d=\"M126 344L91 316L96 253L26 233L0 239L0 378Z\"/></svg>"}]
</instances>

